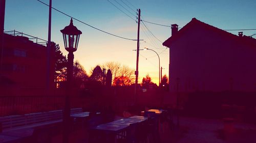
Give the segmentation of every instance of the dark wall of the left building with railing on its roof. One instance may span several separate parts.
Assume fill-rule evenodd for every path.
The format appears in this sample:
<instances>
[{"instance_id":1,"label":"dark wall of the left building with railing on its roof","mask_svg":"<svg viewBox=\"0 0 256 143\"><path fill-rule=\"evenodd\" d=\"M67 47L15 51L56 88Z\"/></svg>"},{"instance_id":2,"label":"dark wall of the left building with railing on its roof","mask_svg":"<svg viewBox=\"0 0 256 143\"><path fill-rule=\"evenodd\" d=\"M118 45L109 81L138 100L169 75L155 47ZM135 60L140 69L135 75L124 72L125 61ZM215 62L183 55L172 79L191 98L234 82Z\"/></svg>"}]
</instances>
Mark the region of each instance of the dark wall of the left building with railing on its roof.
<instances>
[{"instance_id":1,"label":"dark wall of the left building with railing on its roof","mask_svg":"<svg viewBox=\"0 0 256 143\"><path fill-rule=\"evenodd\" d=\"M2 95L45 94L46 53L46 46L33 43L27 37L5 34L3 75L12 83L3 84ZM54 62L51 62L51 86L54 83L53 67Z\"/></svg>"}]
</instances>

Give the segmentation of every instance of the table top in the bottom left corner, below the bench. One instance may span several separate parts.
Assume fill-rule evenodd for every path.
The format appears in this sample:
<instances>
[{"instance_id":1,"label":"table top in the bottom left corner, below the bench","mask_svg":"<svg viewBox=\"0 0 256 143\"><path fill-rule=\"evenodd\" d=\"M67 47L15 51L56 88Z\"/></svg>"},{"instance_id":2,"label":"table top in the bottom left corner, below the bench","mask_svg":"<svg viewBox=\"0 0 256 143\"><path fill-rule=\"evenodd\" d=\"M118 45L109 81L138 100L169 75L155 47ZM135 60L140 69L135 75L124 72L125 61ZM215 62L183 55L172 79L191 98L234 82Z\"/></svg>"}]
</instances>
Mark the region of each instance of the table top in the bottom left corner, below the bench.
<instances>
[{"instance_id":1,"label":"table top in the bottom left corner, below the bench","mask_svg":"<svg viewBox=\"0 0 256 143\"><path fill-rule=\"evenodd\" d=\"M30 137L33 135L34 129L19 129L19 130L12 130L12 131L7 131L7 132L2 132L1 134L3 135L8 135L8 136L15 136L15 137Z\"/></svg>"}]
</instances>

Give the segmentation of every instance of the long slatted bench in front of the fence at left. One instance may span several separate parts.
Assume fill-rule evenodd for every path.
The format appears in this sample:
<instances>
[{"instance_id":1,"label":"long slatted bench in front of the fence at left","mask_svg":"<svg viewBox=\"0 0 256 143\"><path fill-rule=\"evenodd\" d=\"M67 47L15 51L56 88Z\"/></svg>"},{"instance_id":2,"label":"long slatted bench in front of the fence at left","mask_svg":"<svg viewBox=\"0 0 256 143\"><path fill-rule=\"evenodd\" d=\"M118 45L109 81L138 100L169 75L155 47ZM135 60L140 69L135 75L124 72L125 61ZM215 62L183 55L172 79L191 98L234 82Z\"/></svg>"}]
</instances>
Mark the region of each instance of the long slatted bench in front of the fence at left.
<instances>
[{"instance_id":1,"label":"long slatted bench in front of the fence at left","mask_svg":"<svg viewBox=\"0 0 256 143\"><path fill-rule=\"evenodd\" d=\"M71 109L71 115L79 112L82 112L82 108ZM0 132L61 123L62 116L62 110L53 110L29 113L25 115L0 117Z\"/></svg>"}]
</instances>

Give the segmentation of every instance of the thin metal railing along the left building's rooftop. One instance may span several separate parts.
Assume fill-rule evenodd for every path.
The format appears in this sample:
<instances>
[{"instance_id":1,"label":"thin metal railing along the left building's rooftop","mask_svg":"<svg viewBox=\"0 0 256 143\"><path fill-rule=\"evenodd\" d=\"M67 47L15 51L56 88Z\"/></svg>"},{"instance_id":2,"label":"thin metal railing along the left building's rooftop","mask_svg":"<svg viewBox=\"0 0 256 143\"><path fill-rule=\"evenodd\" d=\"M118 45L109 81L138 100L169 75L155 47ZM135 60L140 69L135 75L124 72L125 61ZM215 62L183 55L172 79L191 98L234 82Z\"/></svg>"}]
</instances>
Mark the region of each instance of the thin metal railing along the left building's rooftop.
<instances>
[{"instance_id":1,"label":"thin metal railing along the left building's rooftop","mask_svg":"<svg viewBox=\"0 0 256 143\"><path fill-rule=\"evenodd\" d=\"M29 38L30 41L33 41L34 43L36 44L40 44L40 45L46 45L47 44L47 40L44 40L44 39L41 39L41 38L38 38L38 37L34 37L34 36L31 36L31 35L28 35L28 34L25 34L23 32L18 32L18 31L6 31L4 32L5 34L8 34L8 35L12 35L12 36L26 36Z\"/></svg>"}]
</instances>

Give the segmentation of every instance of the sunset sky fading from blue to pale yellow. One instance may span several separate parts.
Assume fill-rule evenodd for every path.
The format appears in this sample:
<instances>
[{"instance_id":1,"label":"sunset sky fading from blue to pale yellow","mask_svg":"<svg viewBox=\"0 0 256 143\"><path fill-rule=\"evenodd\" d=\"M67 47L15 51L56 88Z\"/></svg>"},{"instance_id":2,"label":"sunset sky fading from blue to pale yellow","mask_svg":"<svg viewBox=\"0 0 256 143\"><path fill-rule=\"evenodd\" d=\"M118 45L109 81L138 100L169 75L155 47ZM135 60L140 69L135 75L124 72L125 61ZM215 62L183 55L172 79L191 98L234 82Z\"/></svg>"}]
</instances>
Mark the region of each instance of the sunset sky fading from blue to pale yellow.
<instances>
[{"instance_id":1,"label":"sunset sky fading from blue to pale yellow","mask_svg":"<svg viewBox=\"0 0 256 143\"><path fill-rule=\"evenodd\" d=\"M49 0L40 0L49 4ZM115 6L113 6L112 4ZM121 4L122 6L120 6ZM256 1L216 0L216 1L153 1L153 0L52 0L52 7L100 30L129 39L137 39L136 10L141 10L141 19L163 25L178 24L183 27L192 18L223 30L256 28ZM124 8L125 9L124 9ZM41 39L48 39L49 7L37 0L6 0L5 31L16 30ZM62 30L69 25L70 17L52 10L51 41L63 45ZM74 20L74 25L82 31L78 49L74 52L75 61L90 74L96 65L106 62L119 62L136 69L137 41L117 38ZM144 25L145 24L145 25ZM162 75L168 76L169 49L162 46L171 36L171 29L144 22L140 25L140 49L155 50L160 56ZM146 27L145 27L146 26ZM148 31L147 30L150 30ZM229 31L238 35L240 31ZM256 31L243 31L250 36ZM152 34L154 35L152 35ZM158 83L159 61L151 50L141 50L139 55L139 82L149 74Z\"/></svg>"}]
</instances>

